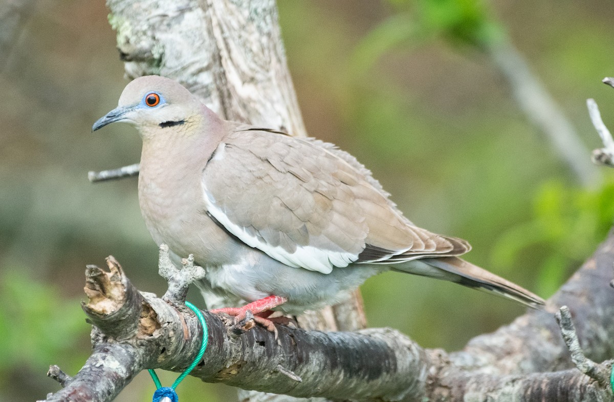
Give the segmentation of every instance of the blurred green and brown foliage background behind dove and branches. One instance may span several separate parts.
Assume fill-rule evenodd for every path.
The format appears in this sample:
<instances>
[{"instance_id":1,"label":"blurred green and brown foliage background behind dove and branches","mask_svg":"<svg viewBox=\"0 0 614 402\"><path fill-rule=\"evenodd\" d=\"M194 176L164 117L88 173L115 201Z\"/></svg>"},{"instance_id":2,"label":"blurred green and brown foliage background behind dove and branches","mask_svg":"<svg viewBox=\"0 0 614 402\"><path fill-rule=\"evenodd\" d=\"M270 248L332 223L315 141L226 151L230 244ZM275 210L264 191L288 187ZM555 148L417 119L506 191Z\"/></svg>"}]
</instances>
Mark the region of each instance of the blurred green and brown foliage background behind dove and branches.
<instances>
[{"instance_id":1,"label":"blurred green and brown foliage background behind dove and branches","mask_svg":"<svg viewBox=\"0 0 614 402\"><path fill-rule=\"evenodd\" d=\"M602 184L578 186L488 49L511 40L597 148L584 105L596 98L612 123L614 92L600 79L614 74L614 15L605 1L533 3L281 1L279 12L309 133L370 167L416 224L467 238L467 259L548 297L610 228L614 178L602 170ZM114 254L141 290L165 290L152 275L157 250L136 180L86 178L135 162L140 150L129 127L89 134L126 84L104 4L35 4L0 75L0 401L43 399L58 387L44 377L50 364L74 374L87 358L85 264ZM371 326L448 350L523 313L402 274L372 278L363 296ZM141 374L119 401L147 401L152 391ZM222 401L234 391L188 379L180 395Z\"/></svg>"}]
</instances>

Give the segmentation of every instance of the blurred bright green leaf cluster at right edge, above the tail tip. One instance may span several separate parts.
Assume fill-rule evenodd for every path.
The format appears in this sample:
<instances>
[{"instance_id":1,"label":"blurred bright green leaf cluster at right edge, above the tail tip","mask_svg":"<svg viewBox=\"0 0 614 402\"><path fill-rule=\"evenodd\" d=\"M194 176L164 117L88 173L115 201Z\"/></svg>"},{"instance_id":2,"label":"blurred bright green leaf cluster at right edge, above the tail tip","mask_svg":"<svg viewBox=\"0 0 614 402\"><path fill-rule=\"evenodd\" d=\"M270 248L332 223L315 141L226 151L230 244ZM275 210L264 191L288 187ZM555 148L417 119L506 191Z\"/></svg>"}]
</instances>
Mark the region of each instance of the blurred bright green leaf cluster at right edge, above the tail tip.
<instances>
[{"instance_id":1,"label":"blurred bright green leaf cluster at right edge, above the tail tip","mask_svg":"<svg viewBox=\"0 0 614 402\"><path fill-rule=\"evenodd\" d=\"M505 232L492 258L518 266L527 258L540 267L538 293L556 291L594 251L612 226L614 180L599 189L550 181L535 196L533 216Z\"/></svg>"}]
</instances>

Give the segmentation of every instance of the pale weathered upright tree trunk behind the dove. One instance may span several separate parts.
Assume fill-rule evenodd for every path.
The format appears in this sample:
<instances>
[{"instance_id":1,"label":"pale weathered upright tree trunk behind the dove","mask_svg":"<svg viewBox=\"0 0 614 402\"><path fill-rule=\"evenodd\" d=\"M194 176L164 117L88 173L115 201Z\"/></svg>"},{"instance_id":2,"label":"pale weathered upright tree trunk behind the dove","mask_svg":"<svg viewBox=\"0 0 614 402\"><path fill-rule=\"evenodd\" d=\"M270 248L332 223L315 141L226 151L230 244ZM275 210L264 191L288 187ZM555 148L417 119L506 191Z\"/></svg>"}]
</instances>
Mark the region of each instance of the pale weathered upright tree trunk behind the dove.
<instances>
[{"instance_id":1,"label":"pale weathered upright tree trunk behind the dove","mask_svg":"<svg viewBox=\"0 0 614 402\"><path fill-rule=\"evenodd\" d=\"M181 82L227 120L306 136L274 0L107 0L126 76ZM209 309L228 307L208 305ZM362 299L298 318L301 328L365 328ZM249 398L244 392L240 399ZM273 396L251 393L251 401Z\"/></svg>"}]
</instances>

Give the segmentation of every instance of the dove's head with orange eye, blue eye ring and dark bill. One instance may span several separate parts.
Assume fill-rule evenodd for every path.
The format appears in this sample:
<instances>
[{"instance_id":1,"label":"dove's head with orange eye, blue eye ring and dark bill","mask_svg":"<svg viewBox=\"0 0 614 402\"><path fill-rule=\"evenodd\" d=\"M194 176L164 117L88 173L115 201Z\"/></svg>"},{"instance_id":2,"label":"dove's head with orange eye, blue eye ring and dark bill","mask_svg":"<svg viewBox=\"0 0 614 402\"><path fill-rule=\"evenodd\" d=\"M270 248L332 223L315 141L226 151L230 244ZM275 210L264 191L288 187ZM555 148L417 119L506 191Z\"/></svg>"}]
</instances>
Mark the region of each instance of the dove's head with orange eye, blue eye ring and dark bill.
<instances>
[{"instance_id":1,"label":"dove's head with orange eye, blue eye ring and dark bill","mask_svg":"<svg viewBox=\"0 0 614 402\"><path fill-rule=\"evenodd\" d=\"M205 111L205 113L203 113ZM114 122L125 122L138 128L143 138L183 132L181 126L200 124L203 117L217 116L179 82L160 76L145 76L126 85L117 108L95 122L92 131ZM215 116L215 117L213 117Z\"/></svg>"}]
</instances>

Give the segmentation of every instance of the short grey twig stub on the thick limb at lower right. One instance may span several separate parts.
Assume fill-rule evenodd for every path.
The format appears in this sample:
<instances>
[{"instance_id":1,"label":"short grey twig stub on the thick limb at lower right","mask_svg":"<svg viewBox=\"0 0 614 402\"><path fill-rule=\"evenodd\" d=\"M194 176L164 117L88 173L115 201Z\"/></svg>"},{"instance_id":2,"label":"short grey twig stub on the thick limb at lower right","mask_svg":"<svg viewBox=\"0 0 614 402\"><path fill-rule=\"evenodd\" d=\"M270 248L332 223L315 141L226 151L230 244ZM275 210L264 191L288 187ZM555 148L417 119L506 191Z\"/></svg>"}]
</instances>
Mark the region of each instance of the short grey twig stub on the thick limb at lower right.
<instances>
[{"instance_id":1,"label":"short grey twig stub on the thick limb at lower right","mask_svg":"<svg viewBox=\"0 0 614 402\"><path fill-rule=\"evenodd\" d=\"M587 358L584 355L584 352L582 352L580 341L578 341L578 334L576 333L575 326L573 326L572 315L569 312L569 307L566 305L562 306L554 317L556 317L556 321L559 323L563 340L565 341L565 345L567 345L567 349L569 350L573 364L576 366L576 368L587 376L596 380L599 385L602 385L603 387L610 384L610 377L601 371L600 366L597 365L597 363Z\"/></svg>"}]
</instances>

